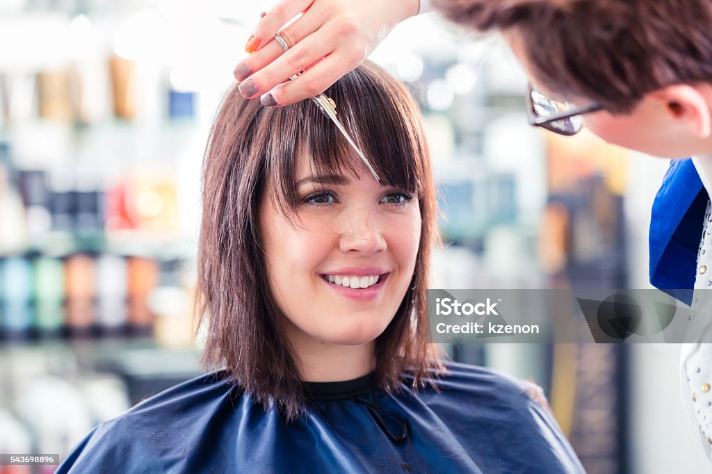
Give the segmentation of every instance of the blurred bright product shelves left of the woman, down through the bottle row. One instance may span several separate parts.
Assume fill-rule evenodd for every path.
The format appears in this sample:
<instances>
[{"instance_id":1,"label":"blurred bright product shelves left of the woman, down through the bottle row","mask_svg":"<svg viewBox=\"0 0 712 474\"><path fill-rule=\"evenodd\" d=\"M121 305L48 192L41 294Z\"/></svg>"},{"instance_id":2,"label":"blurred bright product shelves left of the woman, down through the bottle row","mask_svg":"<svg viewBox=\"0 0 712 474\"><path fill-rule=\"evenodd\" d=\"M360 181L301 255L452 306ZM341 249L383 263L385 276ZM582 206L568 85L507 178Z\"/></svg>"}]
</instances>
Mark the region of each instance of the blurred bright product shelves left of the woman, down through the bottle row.
<instances>
[{"instance_id":1,"label":"blurred bright product shelves left of the woman, down through the bottle row","mask_svg":"<svg viewBox=\"0 0 712 474\"><path fill-rule=\"evenodd\" d=\"M179 65L144 55L155 9L65 7L19 2L0 18L0 39L17 45L0 60L0 347L192 345L209 117Z\"/></svg>"}]
</instances>

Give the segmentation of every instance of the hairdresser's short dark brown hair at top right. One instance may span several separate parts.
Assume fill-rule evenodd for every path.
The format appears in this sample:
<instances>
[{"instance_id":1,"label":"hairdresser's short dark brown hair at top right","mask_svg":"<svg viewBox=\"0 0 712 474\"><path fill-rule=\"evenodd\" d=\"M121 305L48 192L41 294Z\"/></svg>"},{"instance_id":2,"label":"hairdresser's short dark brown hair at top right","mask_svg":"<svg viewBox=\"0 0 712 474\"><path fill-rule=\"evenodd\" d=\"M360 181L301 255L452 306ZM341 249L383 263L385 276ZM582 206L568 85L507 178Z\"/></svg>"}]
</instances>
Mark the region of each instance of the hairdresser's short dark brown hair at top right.
<instances>
[{"instance_id":1,"label":"hairdresser's short dark brown hair at top right","mask_svg":"<svg viewBox=\"0 0 712 474\"><path fill-rule=\"evenodd\" d=\"M515 35L563 98L629 112L651 91L712 81L712 1L435 0L446 18Z\"/></svg>"}]
</instances>

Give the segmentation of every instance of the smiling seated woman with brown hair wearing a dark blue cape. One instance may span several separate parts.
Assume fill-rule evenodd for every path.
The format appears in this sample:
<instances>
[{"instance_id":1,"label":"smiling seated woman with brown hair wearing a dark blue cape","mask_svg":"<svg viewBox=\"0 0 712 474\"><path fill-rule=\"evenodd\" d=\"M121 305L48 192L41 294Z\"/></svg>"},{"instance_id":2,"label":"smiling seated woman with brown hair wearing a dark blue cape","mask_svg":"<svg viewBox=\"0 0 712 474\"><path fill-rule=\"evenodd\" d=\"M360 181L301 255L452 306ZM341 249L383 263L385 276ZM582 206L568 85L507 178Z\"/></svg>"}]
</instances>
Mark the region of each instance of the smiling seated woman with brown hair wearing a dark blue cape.
<instances>
[{"instance_id":1,"label":"smiling seated woman with brown hair wearing a dark blue cape","mask_svg":"<svg viewBox=\"0 0 712 474\"><path fill-rule=\"evenodd\" d=\"M204 162L204 362L101 423L58 472L582 473L538 387L426 344L436 240L422 122L362 65L313 102L233 88Z\"/></svg>"}]
</instances>

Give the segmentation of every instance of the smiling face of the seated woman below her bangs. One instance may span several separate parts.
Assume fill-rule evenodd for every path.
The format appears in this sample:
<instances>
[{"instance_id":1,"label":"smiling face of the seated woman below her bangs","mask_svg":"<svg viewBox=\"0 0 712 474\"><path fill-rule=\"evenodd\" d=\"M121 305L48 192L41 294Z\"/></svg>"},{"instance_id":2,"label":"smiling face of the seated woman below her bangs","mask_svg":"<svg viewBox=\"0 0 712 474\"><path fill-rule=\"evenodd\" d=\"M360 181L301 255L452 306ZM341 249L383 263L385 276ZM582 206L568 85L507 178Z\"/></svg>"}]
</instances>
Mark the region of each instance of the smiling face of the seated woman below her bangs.
<instances>
[{"instance_id":1,"label":"smiling face of the seated woman below her bangs","mask_svg":"<svg viewBox=\"0 0 712 474\"><path fill-rule=\"evenodd\" d=\"M314 177L297 163L293 223L268 182L259 211L272 295L299 352L369 344L387 327L411 283L421 232L418 196L346 172ZM367 345L372 347L372 345Z\"/></svg>"}]
</instances>

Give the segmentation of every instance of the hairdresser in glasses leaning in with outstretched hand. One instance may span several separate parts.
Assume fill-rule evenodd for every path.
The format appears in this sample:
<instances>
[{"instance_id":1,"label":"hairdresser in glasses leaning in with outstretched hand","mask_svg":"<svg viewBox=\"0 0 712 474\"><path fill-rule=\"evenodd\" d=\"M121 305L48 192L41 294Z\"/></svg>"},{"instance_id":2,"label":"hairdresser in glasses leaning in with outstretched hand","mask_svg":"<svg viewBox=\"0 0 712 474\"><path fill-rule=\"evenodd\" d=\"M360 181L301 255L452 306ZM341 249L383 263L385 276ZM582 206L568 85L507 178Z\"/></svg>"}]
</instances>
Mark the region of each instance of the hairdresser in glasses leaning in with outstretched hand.
<instances>
[{"instance_id":1,"label":"hairdresser in glasses leaning in with outstretched hand","mask_svg":"<svg viewBox=\"0 0 712 474\"><path fill-rule=\"evenodd\" d=\"M392 28L426 9L501 31L530 75L530 122L671 162L652 211L650 279L709 315L712 289L712 1L283 0L248 38L234 74L246 98L278 107L322 92ZM286 28L290 19L303 14ZM684 34L680 32L684 31ZM280 33L287 53L272 41ZM305 70L297 80L285 79ZM691 157L683 159L684 157ZM669 290L674 289L674 290ZM707 291L704 291L707 290ZM684 403L712 457L712 324L686 337ZM704 321L702 321L704 320Z\"/></svg>"}]
</instances>

